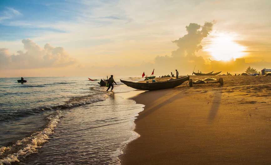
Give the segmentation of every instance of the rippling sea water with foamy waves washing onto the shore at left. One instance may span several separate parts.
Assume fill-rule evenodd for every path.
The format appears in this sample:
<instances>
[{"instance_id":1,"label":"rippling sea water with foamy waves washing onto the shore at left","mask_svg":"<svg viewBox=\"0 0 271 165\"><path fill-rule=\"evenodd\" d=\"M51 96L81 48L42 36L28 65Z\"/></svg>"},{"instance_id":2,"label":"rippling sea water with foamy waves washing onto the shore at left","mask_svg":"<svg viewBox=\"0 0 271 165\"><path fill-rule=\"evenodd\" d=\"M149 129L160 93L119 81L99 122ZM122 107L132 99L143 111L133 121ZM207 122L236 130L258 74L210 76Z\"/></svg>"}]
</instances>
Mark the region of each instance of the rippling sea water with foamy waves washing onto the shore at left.
<instances>
[{"instance_id":1,"label":"rippling sea water with foamy waves washing onto the shore at left","mask_svg":"<svg viewBox=\"0 0 271 165\"><path fill-rule=\"evenodd\" d=\"M144 105L117 94L133 90L119 78L114 92L91 78L1 78L0 165L120 164Z\"/></svg>"}]
</instances>

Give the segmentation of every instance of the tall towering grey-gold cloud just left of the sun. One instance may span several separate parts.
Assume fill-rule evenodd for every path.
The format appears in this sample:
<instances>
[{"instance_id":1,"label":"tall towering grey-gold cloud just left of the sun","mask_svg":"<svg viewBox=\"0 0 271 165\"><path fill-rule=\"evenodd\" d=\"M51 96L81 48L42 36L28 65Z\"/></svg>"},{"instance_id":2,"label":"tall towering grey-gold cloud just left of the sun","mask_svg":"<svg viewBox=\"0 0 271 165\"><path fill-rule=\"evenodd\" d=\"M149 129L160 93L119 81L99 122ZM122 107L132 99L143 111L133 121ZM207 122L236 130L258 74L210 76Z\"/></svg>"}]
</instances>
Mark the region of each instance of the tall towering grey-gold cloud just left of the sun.
<instances>
[{"instance_id":1,"label":"tall towering grey-gold cloud just left of the sun","mask_svg":"<svg viewBox=\"0 0 271 165\"><path fill-rule=\"evenodd\" d=\"M178 46L178 49L171 52L171 56L157 56L155 58L156 66L162 67L163 70L187 70L194 65L202 67L206 61L202 56L196 56L202 49L201 41L212 31L213 23L206 22L203 26L197 23L190 23L186 26L187 34L183 37L172 41Z\"/></svg>"}]
</instances>

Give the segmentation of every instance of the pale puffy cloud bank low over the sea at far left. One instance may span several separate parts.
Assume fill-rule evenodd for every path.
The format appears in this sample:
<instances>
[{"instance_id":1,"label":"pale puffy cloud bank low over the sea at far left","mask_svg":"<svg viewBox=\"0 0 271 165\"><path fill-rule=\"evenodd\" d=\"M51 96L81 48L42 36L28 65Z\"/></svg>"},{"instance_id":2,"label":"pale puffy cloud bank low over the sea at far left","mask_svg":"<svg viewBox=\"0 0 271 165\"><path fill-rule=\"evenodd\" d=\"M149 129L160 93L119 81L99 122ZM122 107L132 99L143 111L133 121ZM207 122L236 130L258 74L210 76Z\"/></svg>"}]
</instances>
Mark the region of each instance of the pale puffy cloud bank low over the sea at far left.
<instances>
[{"instance_id":1,"label":"pale puffy cloud bank low over the sea at far left","mask_svg":"<svg viewBox=\"0 0 271 165\"><path fill-rule=\"evenodd\" d=\"M30 39L23 39L22 43L26 52L19 50L17 54L11 55L8 49L0 49L1 69L52 68L77 63L62 47L45 44L44 48L41 48Z\"/></svg>"}]
</instances>

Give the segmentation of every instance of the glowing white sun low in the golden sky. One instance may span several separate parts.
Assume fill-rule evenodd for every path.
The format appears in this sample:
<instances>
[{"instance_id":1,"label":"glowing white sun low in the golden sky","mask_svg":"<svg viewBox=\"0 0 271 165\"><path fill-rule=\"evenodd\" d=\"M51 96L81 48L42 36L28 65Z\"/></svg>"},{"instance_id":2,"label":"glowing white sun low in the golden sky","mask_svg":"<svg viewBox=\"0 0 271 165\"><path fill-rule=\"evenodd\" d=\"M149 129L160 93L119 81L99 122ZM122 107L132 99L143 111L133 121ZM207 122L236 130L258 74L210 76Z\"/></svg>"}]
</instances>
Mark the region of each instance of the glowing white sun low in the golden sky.
<instances>
[{"instance_id":1,"label":"glowing white sun low in the golden sky","mask_svg":"<svg viewBox=\"0 0 271 165\"><path fill-rule=\"evenodd\" d=\"M246 47L235 42L236 35L219 33L214 34L211 38L211 43L203 48L209 52L213 59L229 61L246 55Z\"/></svg>"}]
</instances>

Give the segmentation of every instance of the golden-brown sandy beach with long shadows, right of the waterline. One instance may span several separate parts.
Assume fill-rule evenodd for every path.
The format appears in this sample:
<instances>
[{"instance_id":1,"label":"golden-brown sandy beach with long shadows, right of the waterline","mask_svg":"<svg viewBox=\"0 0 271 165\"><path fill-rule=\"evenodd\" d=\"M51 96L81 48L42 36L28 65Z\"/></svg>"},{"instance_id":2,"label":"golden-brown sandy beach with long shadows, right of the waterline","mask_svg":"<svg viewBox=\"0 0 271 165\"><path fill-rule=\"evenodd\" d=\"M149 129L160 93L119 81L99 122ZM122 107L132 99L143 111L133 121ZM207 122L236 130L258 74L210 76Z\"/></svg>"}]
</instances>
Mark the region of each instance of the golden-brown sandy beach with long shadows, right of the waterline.
<instances>
[{"instance_id":1,"label":"golden-brown sandy beach with long shadows, right of the waterline","mask_svg":"<svg viewBox=\"0 0 271 165\"><path fill-rule=\"evenodd\" d=\"M271 76L207 77L223 77L224 85L130 98L146 106L135 120L140 137L126 146L121 164L271 164Z\"/></svg>"}]
</instances>

